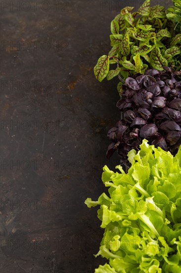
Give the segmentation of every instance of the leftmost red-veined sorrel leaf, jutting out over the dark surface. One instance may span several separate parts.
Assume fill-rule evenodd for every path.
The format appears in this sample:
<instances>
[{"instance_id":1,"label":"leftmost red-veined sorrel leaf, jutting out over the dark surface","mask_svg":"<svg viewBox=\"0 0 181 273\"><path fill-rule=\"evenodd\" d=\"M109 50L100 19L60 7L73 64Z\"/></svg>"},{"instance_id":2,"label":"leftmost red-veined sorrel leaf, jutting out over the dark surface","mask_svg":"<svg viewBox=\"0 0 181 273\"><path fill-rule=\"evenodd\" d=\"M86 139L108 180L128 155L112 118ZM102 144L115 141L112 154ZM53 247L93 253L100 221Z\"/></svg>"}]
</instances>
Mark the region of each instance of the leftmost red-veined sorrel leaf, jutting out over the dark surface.
<instances>
[{"instance_id":1,"label":"leftmost red-veined sorrel leaf, jutting out over the dark surface","mask_svg":"<svg viewBox=\"0 0 181 273\"><path fill-rule=\"evenodd\" d=\"M96 79L98 79L99 81L102 81L107 76L108 71L109 71L109 56L103 55L98 59L97 64L94 67L94 75Z\"/></svg>"}]
</instances>

